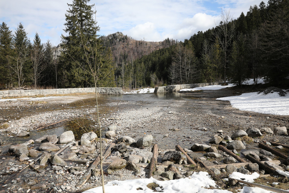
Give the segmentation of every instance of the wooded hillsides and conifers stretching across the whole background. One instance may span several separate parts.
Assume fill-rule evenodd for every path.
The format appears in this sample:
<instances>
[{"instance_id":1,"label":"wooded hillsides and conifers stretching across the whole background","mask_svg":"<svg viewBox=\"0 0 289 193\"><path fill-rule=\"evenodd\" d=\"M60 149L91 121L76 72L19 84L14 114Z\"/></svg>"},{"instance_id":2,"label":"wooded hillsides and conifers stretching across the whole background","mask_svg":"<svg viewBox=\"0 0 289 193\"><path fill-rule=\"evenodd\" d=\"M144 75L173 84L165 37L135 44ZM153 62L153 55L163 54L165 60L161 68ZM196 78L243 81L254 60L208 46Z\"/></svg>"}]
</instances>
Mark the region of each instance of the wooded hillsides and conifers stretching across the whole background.
<instances>
[{"instance_id":1,"label":"wooded hillsides and conifers stretching across the whole background","mask_svg":"<svg viewBox=\"0 0 289 193\"><path fill-rule=\"evenodd\" d=\"M135 40L121 32L99 36L101 26L89 0L73 0L63 14L65 29L57 46L41 41L38 33L28 39L21 23L15 33L0 24L0 89L93 87L90 62L99 67L98 87L241 85L258 77L289 85L288 0L262 1L237 19L222 10L215 27L183 42Z\"/></svg>"}]
</instances>

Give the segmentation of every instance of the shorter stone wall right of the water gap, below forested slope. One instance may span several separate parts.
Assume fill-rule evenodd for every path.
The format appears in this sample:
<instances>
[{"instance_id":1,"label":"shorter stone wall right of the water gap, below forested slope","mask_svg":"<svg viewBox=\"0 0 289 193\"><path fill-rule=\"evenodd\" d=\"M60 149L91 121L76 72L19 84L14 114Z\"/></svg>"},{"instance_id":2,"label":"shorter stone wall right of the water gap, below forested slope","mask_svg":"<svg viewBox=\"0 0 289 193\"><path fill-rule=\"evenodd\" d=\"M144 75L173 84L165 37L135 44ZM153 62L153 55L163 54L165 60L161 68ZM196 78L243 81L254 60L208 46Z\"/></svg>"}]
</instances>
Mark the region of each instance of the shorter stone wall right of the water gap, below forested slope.
<instances>
[{"instance_id":1,"label":"shorter stone wall right of the water gap, below forested slope","mask_svg":"<svg viewBox=\"0 0 289 193\"><path fill-rule=\"evenodd\" d=\"M154 92L155 93L177 92L184 88L204 87L204 86L210 86L210 85L216 85L216 84L222 84L222 83L214 82L214 83L200 83L200 84L176 84L176 85L170 85L170 86L156 87L154 89Z\"/></svg>"}]
</instances>

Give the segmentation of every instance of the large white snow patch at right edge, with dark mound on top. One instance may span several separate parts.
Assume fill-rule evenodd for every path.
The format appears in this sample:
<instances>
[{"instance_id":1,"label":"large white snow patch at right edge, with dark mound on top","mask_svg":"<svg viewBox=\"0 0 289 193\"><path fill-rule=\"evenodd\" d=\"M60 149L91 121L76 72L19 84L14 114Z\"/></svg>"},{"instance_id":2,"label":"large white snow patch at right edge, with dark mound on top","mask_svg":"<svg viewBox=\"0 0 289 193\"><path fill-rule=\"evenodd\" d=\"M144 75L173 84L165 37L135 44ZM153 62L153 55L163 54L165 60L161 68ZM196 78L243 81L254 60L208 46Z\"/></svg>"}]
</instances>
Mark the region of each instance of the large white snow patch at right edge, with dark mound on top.
<instances>
[{"instance_id":1,"label":"large white snow patch at right edge, with dark mound on top","mask_svg":"<svg viewBox=\"0 0 289 193\"><path fill-rule=\"evenodd\" d=\"M266 95L257 92L244 93L240 96L228 96L216 100L228 100L232 107L243 111L253 111L272 115L289 115L289 94L279 96L278 93Z\"/></svg>"}]
</instances>

